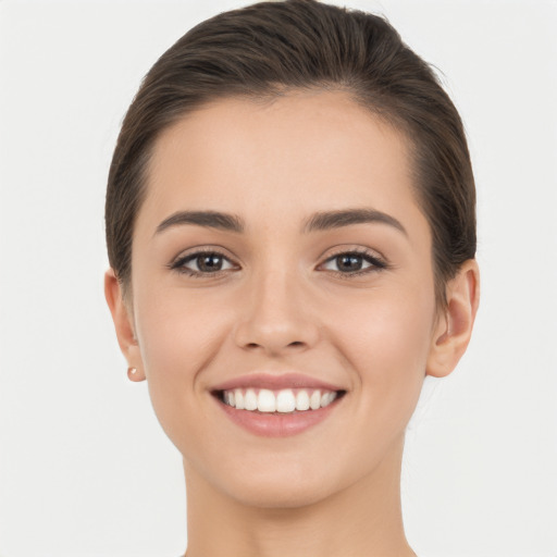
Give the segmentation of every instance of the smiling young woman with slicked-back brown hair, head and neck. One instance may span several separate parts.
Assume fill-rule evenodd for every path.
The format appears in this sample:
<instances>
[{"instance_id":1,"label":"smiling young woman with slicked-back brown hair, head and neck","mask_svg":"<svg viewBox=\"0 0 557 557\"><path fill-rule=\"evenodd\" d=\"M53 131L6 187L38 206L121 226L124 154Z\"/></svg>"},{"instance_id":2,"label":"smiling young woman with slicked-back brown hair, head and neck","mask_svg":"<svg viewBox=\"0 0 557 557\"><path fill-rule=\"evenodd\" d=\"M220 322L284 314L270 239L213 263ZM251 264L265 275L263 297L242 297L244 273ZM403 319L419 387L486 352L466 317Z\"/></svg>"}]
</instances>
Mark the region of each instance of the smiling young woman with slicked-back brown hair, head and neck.
<instances>
[{"instance_id":1,"label":"smiling young woman with slicked-back brown hair, head and neck","mask_svg":"<svg viewBox=\"0 0 557 557\"><path fill-rule=\"evenodd\" d=\"M154 64L106 294L183 455L187 557L414 555L405 428L470 338L474 206L458 113L381 17L258 3Z\"/></svg>"}]
</instances>

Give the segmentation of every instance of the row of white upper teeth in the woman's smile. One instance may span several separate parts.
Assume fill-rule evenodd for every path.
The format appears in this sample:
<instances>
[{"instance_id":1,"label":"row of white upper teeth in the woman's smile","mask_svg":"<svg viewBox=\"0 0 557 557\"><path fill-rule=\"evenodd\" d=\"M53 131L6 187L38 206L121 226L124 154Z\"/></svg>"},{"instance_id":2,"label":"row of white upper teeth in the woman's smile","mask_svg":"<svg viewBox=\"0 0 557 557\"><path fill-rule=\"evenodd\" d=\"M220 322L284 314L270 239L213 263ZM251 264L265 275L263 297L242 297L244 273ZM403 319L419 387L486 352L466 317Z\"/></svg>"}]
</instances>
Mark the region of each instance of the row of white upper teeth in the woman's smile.
<instances>
[{"instance_id":1,"label":"row of white upper teeth in the woman's smile","mask_svg":"<svg viewBox=\"0 0 557 557\"><path fill-rule=\"evenodd\" d=\"M337 396L334 391L284 388L235 388L224 392L224 401L237 410L259 410L260 412L294 412L294 410L317 410L329 406Z\"/></svg>"}]
</instances>

